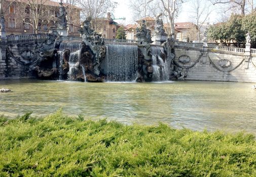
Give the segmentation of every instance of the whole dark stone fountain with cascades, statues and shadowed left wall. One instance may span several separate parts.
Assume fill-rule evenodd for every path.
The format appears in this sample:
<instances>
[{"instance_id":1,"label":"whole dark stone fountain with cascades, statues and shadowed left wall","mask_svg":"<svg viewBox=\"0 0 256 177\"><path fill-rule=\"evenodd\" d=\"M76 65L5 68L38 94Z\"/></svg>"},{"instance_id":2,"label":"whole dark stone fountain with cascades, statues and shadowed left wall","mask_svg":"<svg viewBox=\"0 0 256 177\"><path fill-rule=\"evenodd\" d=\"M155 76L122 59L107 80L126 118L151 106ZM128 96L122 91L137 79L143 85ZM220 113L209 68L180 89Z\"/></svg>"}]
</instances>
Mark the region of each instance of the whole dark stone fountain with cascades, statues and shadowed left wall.
<instances>
[{"instance_id":1,"label":"whole dark stone fountain with cascades, statues and shadowed left wall","mask_svg":"<svg viewBox=\"0 0 256 177\"><path fill-rule=\"evenodd\" d=\"M57 18L57 27L50 28L47 34L8 37L6 61L21 66L22 71L17 71L18 74L31 78L88 82L169 79L174 43L171 39L162 40L160 34L166 34L159 16L157 45L151 44L151 31L146 28L145 21L136 29L135 43L117 45L105 43L103 36L92 29L91 17L86 18L79 30L82 37L67 36L66 10L62 3ZM10 40L10 37L13 39ZM6 67L6 73L12 74L9 67Z\"/></svg>"}]
</instances>

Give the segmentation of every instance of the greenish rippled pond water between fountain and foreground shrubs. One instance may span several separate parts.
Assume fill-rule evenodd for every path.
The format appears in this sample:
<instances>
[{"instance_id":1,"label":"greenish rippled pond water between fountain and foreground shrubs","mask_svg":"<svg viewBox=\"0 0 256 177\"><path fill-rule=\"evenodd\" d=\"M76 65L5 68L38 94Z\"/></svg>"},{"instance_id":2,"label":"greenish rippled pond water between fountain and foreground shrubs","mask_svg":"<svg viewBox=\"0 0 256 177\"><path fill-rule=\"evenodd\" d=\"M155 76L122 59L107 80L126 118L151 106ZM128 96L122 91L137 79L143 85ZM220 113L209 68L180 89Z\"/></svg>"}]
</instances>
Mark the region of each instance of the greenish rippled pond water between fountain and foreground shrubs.
<instances>
[{"instance_id":1,"label":"greenish rippled pond water between fountain and foreground shrubs","mask_svg":"<svg viewBox=\"0 0 256 177\"><path fill-rule=\"evenodd\" d=\"M86 83L2 80L12 93L0 94L0 114L15 117L33 111L42 116L63 108L124 123L177 128L251 132L256 135L256 90L252 83L176 81L158 83Z\"/></svg>"}]
</instances>

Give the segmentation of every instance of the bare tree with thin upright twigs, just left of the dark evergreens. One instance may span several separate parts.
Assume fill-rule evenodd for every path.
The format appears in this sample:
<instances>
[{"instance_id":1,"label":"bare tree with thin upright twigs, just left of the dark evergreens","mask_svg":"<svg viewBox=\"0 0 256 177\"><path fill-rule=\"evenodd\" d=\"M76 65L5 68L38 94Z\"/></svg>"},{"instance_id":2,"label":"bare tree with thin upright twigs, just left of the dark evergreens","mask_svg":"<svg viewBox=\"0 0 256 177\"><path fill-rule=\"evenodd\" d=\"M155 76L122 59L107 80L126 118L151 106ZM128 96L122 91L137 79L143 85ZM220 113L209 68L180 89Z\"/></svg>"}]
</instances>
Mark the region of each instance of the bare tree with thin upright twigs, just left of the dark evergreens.
<instances>
[{"instance_id":1,"label":"bare tree with thin upright twigs, just left of the dark evergreens","mask_svg":"<svg viewBox=\"0 0 256 177\"><path fill-rule=\"evenodd\" d=\"M194 14L193 20L197 25L198 40L201 41L201 34L203 26L209 15L212 12L211 6L205 0L194 0L191 2L192 13Z\"/></svg>"}]
</instances>

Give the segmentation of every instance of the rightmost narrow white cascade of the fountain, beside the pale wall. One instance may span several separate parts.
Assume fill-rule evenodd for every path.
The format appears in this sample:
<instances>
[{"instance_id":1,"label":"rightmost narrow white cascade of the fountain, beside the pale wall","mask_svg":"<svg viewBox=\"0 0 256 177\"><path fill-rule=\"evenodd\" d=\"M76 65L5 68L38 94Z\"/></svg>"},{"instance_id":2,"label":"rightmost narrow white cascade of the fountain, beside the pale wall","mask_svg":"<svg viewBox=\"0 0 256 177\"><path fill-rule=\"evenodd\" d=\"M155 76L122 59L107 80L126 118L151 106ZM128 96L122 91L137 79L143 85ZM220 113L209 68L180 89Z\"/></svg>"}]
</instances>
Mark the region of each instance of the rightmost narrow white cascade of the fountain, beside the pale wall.
<instances>
[{"instance_id":1,"label":"rightmost narrow white cascade of the fountain, beside the pale wall","mask_svg":"<svg viewBox=\"0 0 256 177\"><path fill-rule=\"evenodd\" d=\"M161 46L152 46L153 59L153 81L169 80L170 76L170 61L167 57L163 59L164 49Z\"/></svg>"}]
</instances>

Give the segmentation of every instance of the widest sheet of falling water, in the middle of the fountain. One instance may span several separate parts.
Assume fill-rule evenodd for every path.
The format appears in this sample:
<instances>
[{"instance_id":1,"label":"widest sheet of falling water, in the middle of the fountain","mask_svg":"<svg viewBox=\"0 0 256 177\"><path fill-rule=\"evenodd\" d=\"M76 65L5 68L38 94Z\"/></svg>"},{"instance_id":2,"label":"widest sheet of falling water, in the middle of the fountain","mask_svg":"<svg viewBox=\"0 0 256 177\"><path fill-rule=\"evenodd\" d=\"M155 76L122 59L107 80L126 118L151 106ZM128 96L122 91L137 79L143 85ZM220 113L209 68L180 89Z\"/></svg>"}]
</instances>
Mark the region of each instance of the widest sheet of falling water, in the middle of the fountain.
<instances>
[{"instance_id":1,"label":"widest sheet of falling water, in the middle of the fountain","mask_svg":"<svg viewBox=\"0 0 256 177\"><path fill-rule=\"evenodd\" d=\"M131 45L106 45L101 63L107 81L132 81L137 77L138 48Z\"/></svg>"}]
</instances>

